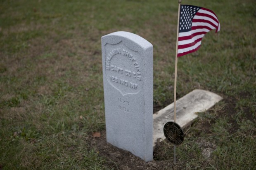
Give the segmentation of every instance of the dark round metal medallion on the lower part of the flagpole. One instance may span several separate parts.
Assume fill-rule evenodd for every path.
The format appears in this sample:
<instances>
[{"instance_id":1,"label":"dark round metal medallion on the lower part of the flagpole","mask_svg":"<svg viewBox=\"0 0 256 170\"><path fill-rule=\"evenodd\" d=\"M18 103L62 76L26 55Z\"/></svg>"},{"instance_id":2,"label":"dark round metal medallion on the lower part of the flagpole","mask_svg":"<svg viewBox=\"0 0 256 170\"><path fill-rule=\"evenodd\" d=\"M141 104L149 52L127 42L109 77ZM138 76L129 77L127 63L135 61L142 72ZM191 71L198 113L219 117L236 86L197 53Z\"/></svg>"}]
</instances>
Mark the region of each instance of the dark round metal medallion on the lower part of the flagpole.
<instances>
[{"instance_id":1,"label":"dark round metal medallion on the lower part of the flagpole","mask_svg":"<svg viewBox=\"0 0 256 170\"><path fill-rule=\"evenodd\" d=\"M184 133L180 126L172 121L164 125L164 135L173 144L181 144L184 140Z\"/></svg>"}]
</instances>

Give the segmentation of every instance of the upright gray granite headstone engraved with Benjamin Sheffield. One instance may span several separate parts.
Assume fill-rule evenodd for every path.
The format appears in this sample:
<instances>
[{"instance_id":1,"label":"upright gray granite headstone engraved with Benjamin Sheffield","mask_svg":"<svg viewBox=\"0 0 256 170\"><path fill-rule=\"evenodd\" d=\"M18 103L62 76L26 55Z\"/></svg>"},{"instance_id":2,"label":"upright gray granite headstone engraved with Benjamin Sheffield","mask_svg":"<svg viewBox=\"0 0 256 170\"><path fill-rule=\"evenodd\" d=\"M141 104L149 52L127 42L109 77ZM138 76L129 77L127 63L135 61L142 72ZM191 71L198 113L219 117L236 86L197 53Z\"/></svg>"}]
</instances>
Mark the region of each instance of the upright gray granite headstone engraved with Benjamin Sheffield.
<instances>
[{"instance_id":1,"label":"upright gray granite headstone engraved with Benjamin Sheffield","mask_svg":"<svg viewBox=\"0 0 256 170\"><path fill-rule=\"evenodd\" d=\"M115 32L102 37L107 142L153 159L153 46Z\"/></svg>"}]
</instances>

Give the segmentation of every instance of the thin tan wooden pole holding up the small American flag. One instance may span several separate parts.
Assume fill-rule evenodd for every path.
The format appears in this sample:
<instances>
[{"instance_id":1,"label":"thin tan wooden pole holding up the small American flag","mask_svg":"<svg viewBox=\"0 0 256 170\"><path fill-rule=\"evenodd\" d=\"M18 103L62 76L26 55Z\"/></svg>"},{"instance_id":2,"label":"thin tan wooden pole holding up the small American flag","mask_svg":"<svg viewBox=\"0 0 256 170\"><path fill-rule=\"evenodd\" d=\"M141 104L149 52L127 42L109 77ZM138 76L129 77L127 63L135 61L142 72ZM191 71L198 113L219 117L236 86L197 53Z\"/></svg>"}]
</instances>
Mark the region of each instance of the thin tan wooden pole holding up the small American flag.
<instances>
[{"instance_id":1,"label":"thin tan wooden pole holding up the small American flag","mask_svg":"<svg viewBox=\"0 0 256 170\"><path fill-rule=\"evenodd\" d=\"M177 23L177 38L176 38L176 55L175 55L175 76L174 76L174 118L173 121L176 122L176 85L177 85L177 65L178 65L178 37L179 37L179 23L180 23L180 4L181 0L179 0L179 9L178 9L178 23ZM176 164L176 145L173 147L173 157L174 164Z\"/></svg>"}]
</instances>

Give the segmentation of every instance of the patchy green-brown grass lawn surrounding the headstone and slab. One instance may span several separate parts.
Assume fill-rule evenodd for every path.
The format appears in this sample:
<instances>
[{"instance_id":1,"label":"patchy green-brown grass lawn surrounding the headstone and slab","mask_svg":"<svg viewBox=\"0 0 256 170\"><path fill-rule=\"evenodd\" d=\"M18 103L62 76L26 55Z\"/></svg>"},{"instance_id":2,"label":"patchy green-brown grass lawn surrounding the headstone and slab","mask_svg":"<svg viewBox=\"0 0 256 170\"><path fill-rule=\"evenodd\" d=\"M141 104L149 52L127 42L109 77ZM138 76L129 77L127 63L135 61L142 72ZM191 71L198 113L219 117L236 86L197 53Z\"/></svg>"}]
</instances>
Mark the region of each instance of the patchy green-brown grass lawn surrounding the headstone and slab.
<instances>
[{"instance_id":1,"label":"patchy green-brown grass lawn surrounding the headstone and slab","mask_svg":"<svg viewBox=\"0 0 256 170\"><path fill-rule=\"evenodd\" d=\"M256 169L256 2L183 4L213 10L221 29L179 58L177 98L200 88L223 100L185 129L177 165L168 142L153 162ZM92 138L105 130L101 37L122 30L153 44L160 109L173 102L177 16L178 0L0 0L0 170L121 170Z\"/></svg>"}]
</instances>

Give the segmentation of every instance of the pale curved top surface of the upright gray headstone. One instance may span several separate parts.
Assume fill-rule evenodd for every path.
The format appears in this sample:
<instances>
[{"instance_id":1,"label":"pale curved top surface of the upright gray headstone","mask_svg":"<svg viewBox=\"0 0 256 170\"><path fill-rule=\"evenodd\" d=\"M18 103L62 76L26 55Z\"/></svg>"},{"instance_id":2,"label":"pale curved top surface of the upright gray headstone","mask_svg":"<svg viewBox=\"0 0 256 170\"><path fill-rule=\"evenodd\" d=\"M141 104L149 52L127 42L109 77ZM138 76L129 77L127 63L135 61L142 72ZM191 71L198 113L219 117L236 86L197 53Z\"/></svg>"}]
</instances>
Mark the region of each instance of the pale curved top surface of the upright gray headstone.
<instances>
[{"instance_id":1,"label":"pale curved top surface of the upright gray headstone","mask_svg":"<svg viewBox=\"0 0 256 170\"><path fill-rule=\"evenodd\" d=\"M111 38L112 37L112 38ZM108 35L104 35L102 37L102 41L104 39L108 39L108 43L116 44L118 41L126 41L126 44L130 44L133 46L133 44L136 44L137 47L141 47L142 49L152 48L153 45L145 40L144 38L140 37L139 35L129 33L126 31L117 31L114 33L110 33ZM112 42L109 41L111 39Z\"/></svg>"}]
</instances>

